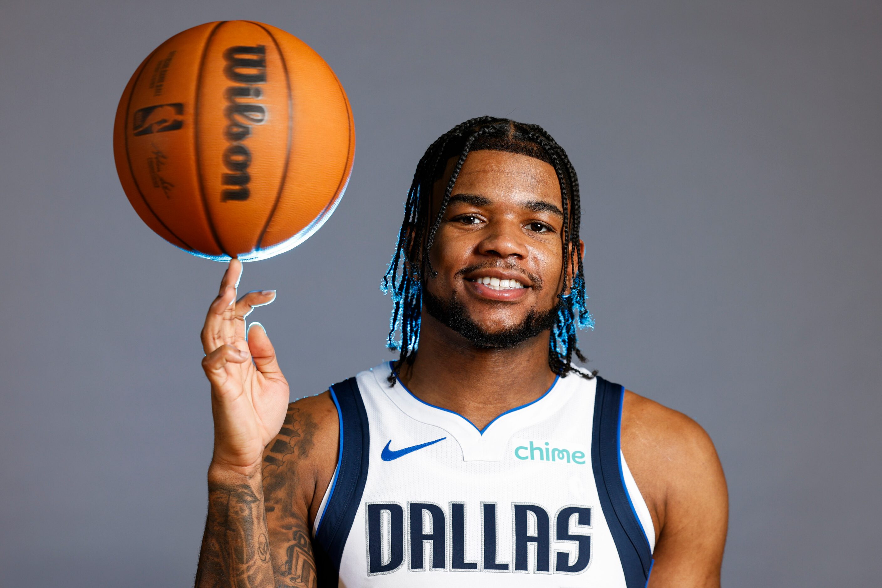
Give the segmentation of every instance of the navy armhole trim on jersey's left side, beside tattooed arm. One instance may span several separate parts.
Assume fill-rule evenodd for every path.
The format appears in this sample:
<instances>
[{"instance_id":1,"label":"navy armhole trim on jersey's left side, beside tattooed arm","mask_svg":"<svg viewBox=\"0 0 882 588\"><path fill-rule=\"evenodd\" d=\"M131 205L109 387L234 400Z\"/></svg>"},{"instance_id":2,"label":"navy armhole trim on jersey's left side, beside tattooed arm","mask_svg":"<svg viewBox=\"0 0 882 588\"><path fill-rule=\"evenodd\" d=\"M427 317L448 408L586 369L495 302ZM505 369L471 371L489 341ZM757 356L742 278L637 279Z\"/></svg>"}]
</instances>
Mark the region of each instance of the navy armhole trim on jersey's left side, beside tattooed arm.
<instances>
[{"instance_id":1,"label":"navy armhole trim on jersey's left side, beside tattooed arm","mask_svg":"<svg viewBox=\"0 0 882 588\"><path fill-rule=\"evenodd\" d=\"M319 588L340 583L340 560L362 502L370 452L368 413L355 378L335 383L330 390L340 417L340 457L331 495L312 541Z\"/></svg>"}]
</instances>

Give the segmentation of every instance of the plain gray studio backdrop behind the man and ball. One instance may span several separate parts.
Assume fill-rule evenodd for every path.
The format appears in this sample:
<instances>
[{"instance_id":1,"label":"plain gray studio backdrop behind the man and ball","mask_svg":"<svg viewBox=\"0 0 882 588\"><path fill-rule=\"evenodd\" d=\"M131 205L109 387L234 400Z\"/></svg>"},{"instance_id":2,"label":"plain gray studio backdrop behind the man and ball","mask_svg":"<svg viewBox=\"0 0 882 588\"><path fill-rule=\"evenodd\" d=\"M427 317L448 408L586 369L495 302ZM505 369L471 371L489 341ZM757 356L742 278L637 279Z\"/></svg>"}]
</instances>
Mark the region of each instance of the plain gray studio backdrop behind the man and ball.
<instances>
[{"instance_id":1,"label":"plain gray studio backdrop behind the man and ball","mask_svg":"<svg viewBox=\"0 0 882 588\"><path fill-rule=\"evenodd\" d=\"M541 123L580 175L592 367L719 450L723 583L878 582L878 2L5 0L0 584L191 584L223 267L138 220L111 130L141 59L218 19L301 37L355 112L337 212L245 267L293 397L391 357L378 284L425 147Z\"/></svg>"}]
</instances>

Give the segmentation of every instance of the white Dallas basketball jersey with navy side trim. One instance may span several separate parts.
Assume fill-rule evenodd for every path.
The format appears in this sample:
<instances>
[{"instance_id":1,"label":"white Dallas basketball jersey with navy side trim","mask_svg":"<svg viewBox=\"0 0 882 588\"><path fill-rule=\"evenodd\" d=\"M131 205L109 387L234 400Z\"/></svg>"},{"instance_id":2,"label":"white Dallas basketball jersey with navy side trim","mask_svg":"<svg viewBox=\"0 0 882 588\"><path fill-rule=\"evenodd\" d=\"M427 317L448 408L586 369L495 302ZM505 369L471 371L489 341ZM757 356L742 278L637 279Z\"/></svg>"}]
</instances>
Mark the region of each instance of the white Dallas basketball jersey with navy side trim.
<instances>
[{"instance_id":1,"label":"white Dallas basketball jersey with navy side trim","mask_svg":"<svg viewBox=\"0 0 882 588\"><path fill-rule=\"evenodd\" d=\"M620 449L622 386L571 373L479 430L389 374L331 388L319 586L646 586L654 530Z\"/></svg>"}]
</instances>

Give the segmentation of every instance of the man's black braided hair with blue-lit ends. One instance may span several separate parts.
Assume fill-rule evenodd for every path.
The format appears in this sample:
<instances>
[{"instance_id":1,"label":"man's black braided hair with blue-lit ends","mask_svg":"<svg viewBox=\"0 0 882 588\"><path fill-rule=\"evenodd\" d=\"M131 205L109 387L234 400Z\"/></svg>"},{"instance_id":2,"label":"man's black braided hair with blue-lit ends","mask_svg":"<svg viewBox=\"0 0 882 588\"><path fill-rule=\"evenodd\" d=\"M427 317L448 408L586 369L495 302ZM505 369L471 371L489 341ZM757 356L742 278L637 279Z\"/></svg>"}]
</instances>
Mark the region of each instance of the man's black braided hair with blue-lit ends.
<instances>
[{"instance_id":1,"label":"man's black braided hair with blue-lit ends","mask_svg":"<svg viewBox=\"0 0 882 588\"><path fill-rule=\"evenodd\" d=\"M414 179L407 191L398 244L381 286L384 293L392 293L392 318L386 346L400 352L399 359L392 364L389 383L395 383L400 368L414 362L420 339L422 280L427 275L432 278L437 276L429 252L466 157L468 153L480 150L528 155L549 163L555 169L564 208L564 284L570 279L572 286L569 293L564 294L564 287L564 291L557 294L557 316L549 338L549 368L558 376L576 371L581 376L592 378L597 374L596 370L586 373L571 365L572 354L576 354L580 361L587 361L577 346L577 327L594 328L594 318L585 306L585 274L582 257L579 256L581 207L576 170L564 148L557 145L548 131L538 124L481 116L456 125L429 145L416 165ZM430 218L432 186L444 176L447 161L452 158L457 158L456 164L447 182L440 209L434 218ZM400 339L397 340L396 331L400 332Z\"/></svg>"}]
</instances>

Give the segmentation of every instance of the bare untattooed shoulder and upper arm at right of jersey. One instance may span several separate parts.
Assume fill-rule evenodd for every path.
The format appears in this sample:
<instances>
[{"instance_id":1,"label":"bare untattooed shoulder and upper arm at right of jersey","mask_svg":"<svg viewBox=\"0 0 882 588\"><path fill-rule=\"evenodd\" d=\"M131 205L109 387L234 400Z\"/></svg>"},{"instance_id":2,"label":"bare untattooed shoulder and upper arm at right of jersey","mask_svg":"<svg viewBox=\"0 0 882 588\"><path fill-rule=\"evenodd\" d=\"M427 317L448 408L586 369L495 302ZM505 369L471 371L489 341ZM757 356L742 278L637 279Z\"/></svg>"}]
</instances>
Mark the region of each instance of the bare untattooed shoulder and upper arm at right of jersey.
<instances>
[{"instance_id":1,"label":"bare untattooed shoulder and upper arm at right of jersey","mask_svg":"<svg viewBox=\"0 0 882 588\"><path fill-rule=\"evenodd\" d=\"M729 498L710 435L684 413L625 391L622 452L653 517L652 585L718 585Z\"/></svg>"}]
</instances>

